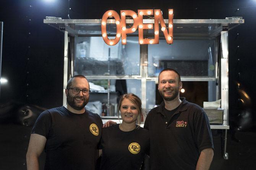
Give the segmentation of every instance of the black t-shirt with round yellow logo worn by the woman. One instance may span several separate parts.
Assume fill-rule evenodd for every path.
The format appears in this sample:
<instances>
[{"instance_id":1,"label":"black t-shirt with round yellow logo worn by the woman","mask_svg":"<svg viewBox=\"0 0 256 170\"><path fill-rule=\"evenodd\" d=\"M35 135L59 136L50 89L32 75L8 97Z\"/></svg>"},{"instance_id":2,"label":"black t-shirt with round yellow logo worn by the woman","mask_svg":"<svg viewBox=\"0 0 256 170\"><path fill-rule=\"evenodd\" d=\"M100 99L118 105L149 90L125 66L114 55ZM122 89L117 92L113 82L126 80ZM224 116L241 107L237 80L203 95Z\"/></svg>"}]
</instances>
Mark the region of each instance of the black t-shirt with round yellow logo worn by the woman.
<instances>
[{"instance_id":1,"label":"black t-shirt with round yellow logo worn by the woman","mask_svg":"<svg viewBox=\"0 0 256 170\"><path fill-rule=\"evenodd\" d=\"M149 151L148 130L123 132L119 124L102 129L100 170L139 170Z\"/></svg>"}]
</instances>

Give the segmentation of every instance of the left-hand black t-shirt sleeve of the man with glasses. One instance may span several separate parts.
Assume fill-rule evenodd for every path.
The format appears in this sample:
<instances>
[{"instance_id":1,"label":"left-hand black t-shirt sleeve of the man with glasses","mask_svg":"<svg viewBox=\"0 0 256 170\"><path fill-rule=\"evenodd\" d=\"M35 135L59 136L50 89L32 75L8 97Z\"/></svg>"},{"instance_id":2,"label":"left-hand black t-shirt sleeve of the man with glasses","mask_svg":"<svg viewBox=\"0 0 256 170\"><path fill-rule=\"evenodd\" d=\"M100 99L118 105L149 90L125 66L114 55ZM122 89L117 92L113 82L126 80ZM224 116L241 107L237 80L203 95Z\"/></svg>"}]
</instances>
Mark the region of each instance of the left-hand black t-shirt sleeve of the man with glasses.
<instances>
[{"instance_id":1,"label":"left-hand black t-shirt sleeve of the man with glasses","mask_svg":"<svg viewBox=\"0 0 256 170\"><path fill-rule=\"evenodd\" d=\"M44 136L45 138L48 138L48 134L51 126L52 126L51 115L49 111L46 110L38 116L32 128L31 134L36 133L38 135Z\"/></svg>"}]
</instances>

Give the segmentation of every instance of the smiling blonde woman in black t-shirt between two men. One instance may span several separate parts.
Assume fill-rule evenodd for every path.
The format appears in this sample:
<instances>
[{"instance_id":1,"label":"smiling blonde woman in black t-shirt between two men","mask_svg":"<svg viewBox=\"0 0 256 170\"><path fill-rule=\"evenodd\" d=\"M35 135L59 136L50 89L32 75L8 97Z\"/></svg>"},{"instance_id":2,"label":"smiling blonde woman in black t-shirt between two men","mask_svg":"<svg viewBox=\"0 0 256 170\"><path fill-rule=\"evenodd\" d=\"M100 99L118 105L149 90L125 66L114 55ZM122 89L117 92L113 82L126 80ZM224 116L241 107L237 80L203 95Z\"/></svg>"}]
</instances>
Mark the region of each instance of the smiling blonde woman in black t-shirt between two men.
<instances>
[{"instance_id":1,"label":"smiling blonde woman in black t-shirt between two men","mask_svg":"<svg viewBox=\"0 0 256 170\"><path fill-rule=\"evenodd\" d=\"M139 126L141 100L124 94L118 105L122 123L102 129L100 170L139 170L149 151L149 132Z\"/></svg>"}]
</instances>

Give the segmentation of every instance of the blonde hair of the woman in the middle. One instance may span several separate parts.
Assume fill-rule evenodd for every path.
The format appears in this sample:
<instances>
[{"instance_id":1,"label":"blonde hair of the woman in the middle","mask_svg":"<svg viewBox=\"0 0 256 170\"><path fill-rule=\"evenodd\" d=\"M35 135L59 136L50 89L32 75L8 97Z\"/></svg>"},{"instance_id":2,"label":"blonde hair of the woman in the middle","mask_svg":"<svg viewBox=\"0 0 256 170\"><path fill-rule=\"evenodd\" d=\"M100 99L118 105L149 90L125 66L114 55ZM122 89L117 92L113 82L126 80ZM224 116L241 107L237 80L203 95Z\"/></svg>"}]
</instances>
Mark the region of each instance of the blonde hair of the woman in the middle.
<instances>
[{"instance_id":1,"label":"blonde hair of the woman in the middle","mask_svg":"<svg viewBox=\"0 0 256 170\"><path fill-rule=\"evenodd\" d=\"M141 124L141 117L142 117L141 99L139 99L139 97L137 95L133 94L133 93L124 94L120 98L119 103L118 103L118 110L117 110L118 119L119 119L119 112L120 112L120 109L121 109L121 105L122 105L123 99L130 100L131 103L133 103L136 106L136 108L138 110L138 113L139 113L138 114L138 118L137 118L137 124L140 125Z\"/></svg>"}]
</instances>

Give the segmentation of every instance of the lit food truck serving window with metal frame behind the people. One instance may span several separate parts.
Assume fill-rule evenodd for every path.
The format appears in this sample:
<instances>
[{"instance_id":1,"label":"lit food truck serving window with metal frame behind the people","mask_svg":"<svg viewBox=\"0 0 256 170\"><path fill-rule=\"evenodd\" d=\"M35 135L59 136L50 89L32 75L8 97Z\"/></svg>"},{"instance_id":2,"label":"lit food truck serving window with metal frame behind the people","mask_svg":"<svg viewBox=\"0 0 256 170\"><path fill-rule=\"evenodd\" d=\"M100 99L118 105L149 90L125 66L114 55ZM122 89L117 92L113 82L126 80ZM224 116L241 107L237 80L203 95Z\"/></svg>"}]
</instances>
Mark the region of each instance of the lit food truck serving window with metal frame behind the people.
<instances>
[{"instance_id":1,"label":"lit food truck serving window with metal frame behind the people","mask_svg":"<svg viewBox=\"0 0 256 170\"><path fill-rule=\"evenodd\" d=\"M147 14L140 22L134 18L139 17L141 11L138 10L138 15L133 11L136 16L131 13L125 17L122 12L126 11L120 14L107 11L110 15L102 19L44 19L45 24L64 33L63 105L66 105L68 79L73 75L84 75L91 90L86 108L99 114L103 122L119 122L118 97L127 92L141 98L144 121L148 111L161 102L157 90L159 72L174 68L183 82L181 97L201 107L204 102L220 102L220 106L208 103L212 107L204 110L211 129L224 131L221 140L223 157L228 159L228 31L243 24L244 19L172 19L169 10L168 19L156 22L156 16ZM117 21L132 32L126 32L124 36L123 27L119 27ZM163 22L166 30L169 29L169 39L161 29ZM154 41L156 33L158 43ZM168 43L169 40L172 42Z\"/></svg>"}]
</instances>

